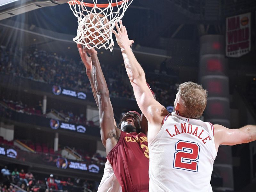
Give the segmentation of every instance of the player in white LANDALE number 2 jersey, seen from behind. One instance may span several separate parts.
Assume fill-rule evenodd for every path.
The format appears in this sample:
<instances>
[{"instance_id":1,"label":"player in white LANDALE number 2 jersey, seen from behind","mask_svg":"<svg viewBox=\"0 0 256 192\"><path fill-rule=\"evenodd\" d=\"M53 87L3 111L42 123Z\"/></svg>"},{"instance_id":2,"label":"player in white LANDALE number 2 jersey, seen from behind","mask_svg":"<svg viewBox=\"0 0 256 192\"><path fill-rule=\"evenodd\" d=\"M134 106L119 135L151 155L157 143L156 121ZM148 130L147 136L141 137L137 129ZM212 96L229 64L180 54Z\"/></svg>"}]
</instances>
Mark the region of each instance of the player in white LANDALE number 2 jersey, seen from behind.
<instances>
[{"instance_id":1,"label":"player in white LANDALE number 2 jersey, seen from behind","mask_svg":"<svg viewBox=\"0 0 256 192\"><path fill-rule=\"evenodd\" d=\"M207 91L193 82L180 84L169 114L146 84L145 73L136 60L127 31L119 22L113 33L141 112L148 119L149 191L212 191L212 165L220 145L256 140L256 126L228 129L197 120L206 107Z\"/></svg>"}]
</instances>

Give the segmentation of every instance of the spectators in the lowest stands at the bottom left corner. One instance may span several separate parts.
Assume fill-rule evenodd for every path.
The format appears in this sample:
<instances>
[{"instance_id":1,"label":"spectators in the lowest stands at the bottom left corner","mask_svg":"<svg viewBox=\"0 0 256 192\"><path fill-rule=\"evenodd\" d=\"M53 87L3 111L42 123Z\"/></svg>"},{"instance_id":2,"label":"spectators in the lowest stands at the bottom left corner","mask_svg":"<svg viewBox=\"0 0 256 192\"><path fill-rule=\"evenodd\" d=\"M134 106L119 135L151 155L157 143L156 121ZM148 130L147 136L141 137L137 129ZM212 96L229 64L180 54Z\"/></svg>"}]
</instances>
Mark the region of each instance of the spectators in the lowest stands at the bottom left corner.
<instances>
[{"instance_id":1,"label":"spectators in the lowest stands at the bottom left corner","mask_svg":"<svg viewBox=\"0 0 256 192\"><path fill-rule=\"evenodd\" d=\"M50 174L35 175L24 169L20 172L17 168L12 171L4 166L1 169L0 192L49 192L49 191L64 191L64 192L82 192L82 191L97 191L98 183L95 181L82 180L80 178L64 178Z\"/></svg>"}]
</instances>

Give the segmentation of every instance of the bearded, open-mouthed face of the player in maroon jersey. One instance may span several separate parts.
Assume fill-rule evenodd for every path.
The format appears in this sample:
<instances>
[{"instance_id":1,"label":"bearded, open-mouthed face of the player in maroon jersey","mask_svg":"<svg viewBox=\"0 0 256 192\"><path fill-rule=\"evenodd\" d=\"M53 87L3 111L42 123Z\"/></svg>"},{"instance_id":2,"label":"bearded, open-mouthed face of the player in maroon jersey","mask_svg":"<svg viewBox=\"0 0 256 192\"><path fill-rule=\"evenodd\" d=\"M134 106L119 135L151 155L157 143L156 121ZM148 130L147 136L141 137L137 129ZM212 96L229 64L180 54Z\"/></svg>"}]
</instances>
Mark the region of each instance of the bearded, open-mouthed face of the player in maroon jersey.
<instances>
[{"instance_id":1,"label":"bearded, open-mouthed face of the player in maroon jersey","mask_svg":"<svg viewBox=\"0 0 256 192\"><path fill-rule=\"evenodd\" d=\"M134 112L127 112L121 120L121 131L138 132L140 130L140 116Z\"/></svg>"}]
</instances>

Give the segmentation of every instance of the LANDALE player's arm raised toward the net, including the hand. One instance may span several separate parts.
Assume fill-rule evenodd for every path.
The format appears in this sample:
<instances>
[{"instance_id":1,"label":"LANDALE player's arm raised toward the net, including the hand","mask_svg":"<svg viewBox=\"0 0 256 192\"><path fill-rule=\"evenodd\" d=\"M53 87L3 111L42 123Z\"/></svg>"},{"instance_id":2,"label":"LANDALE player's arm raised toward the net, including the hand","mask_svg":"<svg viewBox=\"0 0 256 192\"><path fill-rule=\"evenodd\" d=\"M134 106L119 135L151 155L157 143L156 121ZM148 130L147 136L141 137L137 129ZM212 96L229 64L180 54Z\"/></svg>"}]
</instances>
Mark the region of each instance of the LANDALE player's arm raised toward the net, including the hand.
<instances>
[{"instance_id":1,"label":"LANDALE player's arm raised toward the net, including the hand","mask_svg":"<svg viewBox=\"0 0 256 192\"><path fill-rule=\"evenodd\" d=\"M148 119L149 123L161 124L163 117L168 114L167 110L159 102L157 102L146 83L145 73L136 60L130 45L134 42L129 40L125 26L120 20L120 27L116 23L116 29L113 33L116 35L116 41L121 48L126 72L129 76L133 87L136 101L141 112ZM159 126L159 129L161 126Z\"/></svg>"}]
</instances>

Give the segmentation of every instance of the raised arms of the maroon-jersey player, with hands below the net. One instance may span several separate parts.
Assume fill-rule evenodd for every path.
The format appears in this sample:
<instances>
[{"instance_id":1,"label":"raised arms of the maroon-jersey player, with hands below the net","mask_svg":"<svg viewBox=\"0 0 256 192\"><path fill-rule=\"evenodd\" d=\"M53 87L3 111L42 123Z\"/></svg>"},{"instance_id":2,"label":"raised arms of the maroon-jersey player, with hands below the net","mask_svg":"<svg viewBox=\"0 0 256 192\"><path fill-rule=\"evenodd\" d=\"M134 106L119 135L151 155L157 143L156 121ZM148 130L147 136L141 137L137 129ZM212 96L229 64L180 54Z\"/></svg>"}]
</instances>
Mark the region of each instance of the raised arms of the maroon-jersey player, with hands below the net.
<instances>
[{"instance_id":1,"label":"raised arms of the maroon-jersey player, with hands below the net","mask_svg":"<svg viewBox=\"0 0 256 192\"><path fill-rule=\"evenodd\" d=\"M100 67L100 62L97 56L97 52L94 48L85 49L82 48L82 45L77 45L80 57L86 68L86 74L89 78L90 84L92 86L92 92L94 99L99 107L100 112L100 131L101 131L101 140L103 145L106 147L106 142L109 139L110 143L108 144L108 152L116 145L117 143L117 129L114 121L114 113L112 104L109 98L109 91L107 83L103 72ZM87 53L91 58L87 55ZM111 120L110 120L111 119Z\"/></svg>"}]
</instances>

